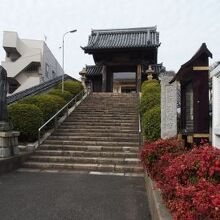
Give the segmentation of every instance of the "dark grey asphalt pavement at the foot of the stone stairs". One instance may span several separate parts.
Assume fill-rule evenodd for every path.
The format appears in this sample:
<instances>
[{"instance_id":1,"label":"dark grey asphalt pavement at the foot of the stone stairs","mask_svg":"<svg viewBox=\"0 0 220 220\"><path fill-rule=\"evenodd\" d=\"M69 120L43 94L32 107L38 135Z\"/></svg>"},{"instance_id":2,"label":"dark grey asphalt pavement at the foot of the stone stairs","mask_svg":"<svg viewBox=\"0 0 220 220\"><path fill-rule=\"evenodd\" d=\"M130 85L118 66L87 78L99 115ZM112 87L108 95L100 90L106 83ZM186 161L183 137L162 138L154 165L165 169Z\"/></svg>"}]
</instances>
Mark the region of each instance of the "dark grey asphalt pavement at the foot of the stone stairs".
<instances>
[{"instance_id":1,"label":"dark grey asphalt pavement at the foot of the stone stairs","mask_svg":"<svg viewBox=\"0 0 220 220\"><path fill-rule=\"evenodd\" d=\"M13 172L0 176L1 220L148 220L143 178Z\"/></svg>"}]
</instances>

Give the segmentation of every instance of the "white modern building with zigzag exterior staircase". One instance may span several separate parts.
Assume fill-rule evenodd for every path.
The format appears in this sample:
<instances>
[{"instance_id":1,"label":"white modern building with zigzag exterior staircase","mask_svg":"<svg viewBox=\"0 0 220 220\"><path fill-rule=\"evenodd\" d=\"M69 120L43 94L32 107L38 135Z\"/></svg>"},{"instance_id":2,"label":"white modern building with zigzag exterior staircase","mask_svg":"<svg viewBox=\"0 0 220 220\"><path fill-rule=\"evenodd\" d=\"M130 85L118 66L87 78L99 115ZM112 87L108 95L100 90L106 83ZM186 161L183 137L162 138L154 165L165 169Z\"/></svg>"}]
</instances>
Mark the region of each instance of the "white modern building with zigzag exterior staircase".
<instances>
[{"instance_id":1,"label":"white modern building with zigzag exterior staircase","mask_svg":"<svg viewBox=\"0 0 220 220\"><path fill-rule=\"evenodd\" d=\"M3 48L9 82L14 94L63 74L63 69L42 40L20 39L16 32L4 31Z\"/></svg>"}]
</instances>

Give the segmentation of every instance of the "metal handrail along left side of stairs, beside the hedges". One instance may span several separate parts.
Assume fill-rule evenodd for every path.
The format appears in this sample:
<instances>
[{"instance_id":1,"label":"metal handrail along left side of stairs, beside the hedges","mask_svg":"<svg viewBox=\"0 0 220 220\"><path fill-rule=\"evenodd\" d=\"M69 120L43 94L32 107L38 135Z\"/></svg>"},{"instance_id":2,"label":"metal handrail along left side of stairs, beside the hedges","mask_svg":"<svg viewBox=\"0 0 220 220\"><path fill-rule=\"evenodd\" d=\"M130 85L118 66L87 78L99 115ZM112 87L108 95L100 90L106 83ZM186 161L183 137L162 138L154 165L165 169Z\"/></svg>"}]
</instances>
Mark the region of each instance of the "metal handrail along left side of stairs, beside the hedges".
<instances>
[{"instance_id":1,"label":"metal handrail along left side of stairs, beside the hedges","mask_svg":"<svg viewBox=\"0 0 220 220\"><path fill-rule=\"evenodd\" d=\"M38 147L40 146L40 138L41 138L41 131L42 129L48 125L51 121L54 121L55 129L58 127L58 116L66 111L66 116L69 115L69 107L71 108L76 107L78 104L77 102L82 101L90 93L90 90L82 90L79 94L74 96L66 105L64 105L55 115L53 115L48 121L46 121L39 129L38 129ZM74 104L73 104L74 103ZM73 104L73 105L72 105Z\"/></svg>"}]
</instances>

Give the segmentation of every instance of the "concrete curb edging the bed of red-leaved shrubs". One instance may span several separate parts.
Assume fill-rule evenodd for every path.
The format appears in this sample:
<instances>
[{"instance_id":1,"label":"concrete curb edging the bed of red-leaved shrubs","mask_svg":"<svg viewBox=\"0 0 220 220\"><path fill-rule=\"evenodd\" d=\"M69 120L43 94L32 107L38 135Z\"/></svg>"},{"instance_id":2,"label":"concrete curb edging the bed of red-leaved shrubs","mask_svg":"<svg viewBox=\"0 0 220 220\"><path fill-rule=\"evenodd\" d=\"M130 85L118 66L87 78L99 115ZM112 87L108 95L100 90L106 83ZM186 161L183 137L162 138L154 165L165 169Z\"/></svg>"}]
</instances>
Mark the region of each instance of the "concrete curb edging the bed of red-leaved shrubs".
<instances>
[{"instance_id":1,"label":"concrete curb edging the bed of red-leaved shrubs","mask_svg":"<svg viewBox=\"0 0 220 220\"><path fill-rule=\"evenodd\" d=\"M163 202L160 190L156 188L155 183L147 173L145 173L144 180L152 220L172 220L173 218Z\"/></svg>"}]
</instances>

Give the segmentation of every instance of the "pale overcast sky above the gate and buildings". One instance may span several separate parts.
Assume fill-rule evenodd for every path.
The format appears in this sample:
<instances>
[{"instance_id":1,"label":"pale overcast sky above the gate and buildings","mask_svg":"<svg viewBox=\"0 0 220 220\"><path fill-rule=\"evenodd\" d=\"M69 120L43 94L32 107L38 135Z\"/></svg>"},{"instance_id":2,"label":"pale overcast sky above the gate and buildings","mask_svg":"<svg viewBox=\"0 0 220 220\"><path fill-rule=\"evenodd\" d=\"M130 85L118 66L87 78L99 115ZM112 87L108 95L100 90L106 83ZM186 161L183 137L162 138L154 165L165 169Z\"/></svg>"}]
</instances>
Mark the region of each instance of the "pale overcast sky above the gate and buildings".
<instances>
[{"instance_id":1,"label":"pale overcast sky above the gate and buildings","mask_svg":"<svg viewBox=\"0 0 220 220\"><path fill-rule=\"evenodd\" d=\"M203 42L220 60L220 0L0 0L0 42L2 31L17 31L20 38L43 40L61 63L62 35L65 38L65 71L79 78L91 29L157 25L161 46L158 62L177 71ZM0 49L0 60L5 52Z\"/></svg>"}]
</instances>

